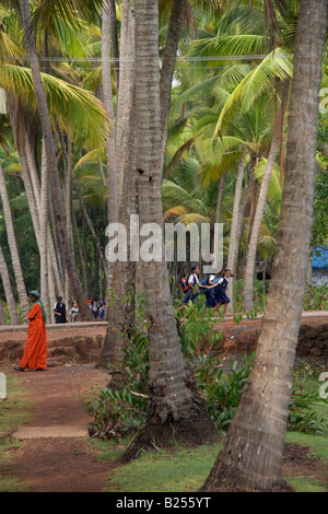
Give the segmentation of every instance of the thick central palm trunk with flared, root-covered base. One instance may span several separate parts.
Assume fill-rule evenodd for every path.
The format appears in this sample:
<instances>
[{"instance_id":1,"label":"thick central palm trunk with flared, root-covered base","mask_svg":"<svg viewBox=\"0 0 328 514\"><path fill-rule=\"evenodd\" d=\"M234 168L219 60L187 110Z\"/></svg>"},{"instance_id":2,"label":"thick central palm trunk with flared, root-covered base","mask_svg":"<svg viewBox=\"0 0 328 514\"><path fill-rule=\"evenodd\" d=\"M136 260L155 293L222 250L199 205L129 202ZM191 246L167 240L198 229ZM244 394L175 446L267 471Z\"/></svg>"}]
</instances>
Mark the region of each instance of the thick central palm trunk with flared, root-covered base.
<instances>
[{"instance_id":1,"label":"thick central palm trunk with flared, root-covered base","mask_svg":"<svg viewBox=\"0 0 328 514\"><path fill-rule=\"evenodd\" d=\"M140 225L153 222L162 227L157 45L157 2L137 0L136 106ZM165 444L174 437L187 444L218 437L181 353L164 252L161 261L141 260L140 267L150 340L149 401L144 431L127 449L126 458L136 456L140 447Z\"/></svg>"}]
</instances>

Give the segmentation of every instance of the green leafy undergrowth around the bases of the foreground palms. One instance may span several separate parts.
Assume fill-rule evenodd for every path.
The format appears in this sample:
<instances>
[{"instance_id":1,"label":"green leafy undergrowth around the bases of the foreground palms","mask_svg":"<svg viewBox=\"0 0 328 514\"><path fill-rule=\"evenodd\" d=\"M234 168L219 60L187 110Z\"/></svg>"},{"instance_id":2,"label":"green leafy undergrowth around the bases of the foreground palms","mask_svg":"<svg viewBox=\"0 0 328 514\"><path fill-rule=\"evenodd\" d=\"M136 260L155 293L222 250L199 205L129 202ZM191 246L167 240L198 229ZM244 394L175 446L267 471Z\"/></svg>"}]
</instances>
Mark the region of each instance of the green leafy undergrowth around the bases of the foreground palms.
<instances>
[{"instance_id":1,"label":"green leafy undergrowth around the bases of the foreground palms","mask_svg":"<svg viewBox=\"0 0 328 514\"><path fill-rule=\"evenodd\" d=\"M90 435L116 440L133 434L145 424L148 402L149 340L144 326L143 300L138 302L138 316L132 330L125 338L125 358L116 364L125 376L121 390L109 386L92 390L82 399L83 408L92 418ZM192 369L199 394L220 431L226 431L239 404L251 370L255 353L230 359L218 344L221 332L204 306L204 299L189 304L183 319L176 312L181 351ZM110 367L113 365L110 364ZM320 364L308 365L301 361L295 366L294 385L290 401L289 431L306 434L327 434L328 420L321 419L319 402L328 400L318 396L316 388Z\"/></svg>"}]
</instances>

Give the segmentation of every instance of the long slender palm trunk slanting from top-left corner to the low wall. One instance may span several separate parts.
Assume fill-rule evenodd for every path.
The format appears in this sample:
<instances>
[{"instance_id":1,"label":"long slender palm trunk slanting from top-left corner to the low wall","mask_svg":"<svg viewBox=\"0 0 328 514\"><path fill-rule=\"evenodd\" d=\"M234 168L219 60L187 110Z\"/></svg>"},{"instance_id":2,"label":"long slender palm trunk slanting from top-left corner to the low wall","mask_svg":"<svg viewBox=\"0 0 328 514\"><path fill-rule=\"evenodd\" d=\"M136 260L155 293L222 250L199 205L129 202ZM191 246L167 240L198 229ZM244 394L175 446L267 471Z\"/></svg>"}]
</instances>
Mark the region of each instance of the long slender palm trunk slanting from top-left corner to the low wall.
<instances>
[{"instance_id":1,"label":"long slender palm trunk slanting from top-left corner to the low wall","mask_svg":"<svg viewBox=\"0 0 328 514\"><path fill-rule=\"evenodd\" d=\"M60 246L61 246L60 249L62 253L61 258L68 271L72 293L79 304L81 318L91 319L92 314L86 304L83 290L79 281L79 277L74 268L71 248L69 245L69 238L68 238L68 234L66 230L65 209L63 209L63 201L62 201L59 173L58 173L58 166L57 166L55 143L54 143L51 126L50 126L48 104L47 104L45 90L43 87L42 75L40 75L38 59L37 59L37 55L35 50L35 43L34 43L33 34L28 34L28 27L32 26L30 2L28 0L21 0L20 4L21 4L21 12L22 12L22 19L23 19L23 25L24 25L26 49L28 52L32 79L33 79L33 84L34 84L34 92L35 92L35 96L37 100L38 114L39 114L40 126L42 126L42 131L43 131L43 137L44 137L45 149L46 149L48 173L51 179L51 192L55 199L56 223L57 223L59 234L60 234Z\"/></svg>"}]
</instances>

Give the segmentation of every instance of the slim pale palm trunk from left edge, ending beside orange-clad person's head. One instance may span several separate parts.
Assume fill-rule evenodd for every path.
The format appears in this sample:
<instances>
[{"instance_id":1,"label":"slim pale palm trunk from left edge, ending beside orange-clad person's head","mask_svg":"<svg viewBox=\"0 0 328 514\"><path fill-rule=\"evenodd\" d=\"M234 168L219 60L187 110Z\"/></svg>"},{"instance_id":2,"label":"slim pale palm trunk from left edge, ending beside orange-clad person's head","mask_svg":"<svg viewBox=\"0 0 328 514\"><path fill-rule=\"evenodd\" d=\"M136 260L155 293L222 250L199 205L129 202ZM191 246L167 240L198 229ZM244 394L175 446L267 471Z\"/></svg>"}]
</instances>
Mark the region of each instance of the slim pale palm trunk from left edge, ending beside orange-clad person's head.
<instances>
[{"instance_id":1,"label":"slim pale palm trunk from left edge, ending beside orange-clad person's head","mask_svg":"<svg viewBox=\"0 0 328 514\"><path fill-rule=\"evenodd\" d=\"M4 180L4 174L3 174L1 162L0 162L0 196L1 196L2 208L3 208L8 244L10 248L23 320L26 323L27 312L30 307L28 307L28 302L27 302L26 288L24 283L22 265L21 265L19 248L16 244L16 237L14 233L12 214L11 214L11 209L10 209L10 203L9 203L9 198L8 198L7 187L5 187L5 180Z\"/></svg>"}]
</instances>

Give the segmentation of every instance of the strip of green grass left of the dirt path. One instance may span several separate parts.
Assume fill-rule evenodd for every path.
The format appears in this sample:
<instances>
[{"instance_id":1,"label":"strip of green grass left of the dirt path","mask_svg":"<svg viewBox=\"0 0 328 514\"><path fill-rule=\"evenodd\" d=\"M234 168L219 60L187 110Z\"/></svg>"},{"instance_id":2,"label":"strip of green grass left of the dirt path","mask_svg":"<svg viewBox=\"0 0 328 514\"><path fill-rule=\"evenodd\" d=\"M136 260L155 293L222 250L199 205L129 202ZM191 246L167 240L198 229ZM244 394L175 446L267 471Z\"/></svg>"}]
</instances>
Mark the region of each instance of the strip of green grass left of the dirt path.
<instances>
[{"instance_id":1,"label":"strip of green grass left of the dirt path","mask_svg":"<svg viewBox=\"0 0 328 514\"><path fill-rule=\"evenodd\" d=\"M23 492L26 486L12 476L10 460L22 443L13 441L11 433L26 423L32 416L33 404L26 387L19 378L7 377L7 399L0 402L0 492Z\"/></svg>"}]
</instances>

